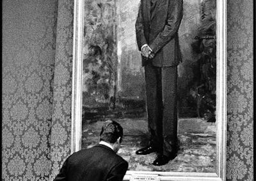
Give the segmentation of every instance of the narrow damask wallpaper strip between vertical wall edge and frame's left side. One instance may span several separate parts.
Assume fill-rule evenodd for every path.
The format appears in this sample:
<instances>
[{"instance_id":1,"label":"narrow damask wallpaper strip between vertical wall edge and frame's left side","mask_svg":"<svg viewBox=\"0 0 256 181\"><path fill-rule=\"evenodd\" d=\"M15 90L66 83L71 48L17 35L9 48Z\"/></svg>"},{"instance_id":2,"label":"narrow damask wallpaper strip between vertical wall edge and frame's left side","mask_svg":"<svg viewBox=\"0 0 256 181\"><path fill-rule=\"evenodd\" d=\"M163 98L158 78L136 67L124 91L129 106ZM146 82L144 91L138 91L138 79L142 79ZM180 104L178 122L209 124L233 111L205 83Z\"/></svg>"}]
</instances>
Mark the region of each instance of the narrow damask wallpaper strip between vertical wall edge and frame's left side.
<instances>
[{"instance_id":1,"label":"narrow damask wallpaper strip between vertical wall edge and frame's left side","mask_svg":"<svg viewBox=\"0 0 256 181\"><path fill-rule=\"evenodd\" d=\"M51 127L52 180L70 154L74 1L58 1Z\"/></svg>"}]
</instances>

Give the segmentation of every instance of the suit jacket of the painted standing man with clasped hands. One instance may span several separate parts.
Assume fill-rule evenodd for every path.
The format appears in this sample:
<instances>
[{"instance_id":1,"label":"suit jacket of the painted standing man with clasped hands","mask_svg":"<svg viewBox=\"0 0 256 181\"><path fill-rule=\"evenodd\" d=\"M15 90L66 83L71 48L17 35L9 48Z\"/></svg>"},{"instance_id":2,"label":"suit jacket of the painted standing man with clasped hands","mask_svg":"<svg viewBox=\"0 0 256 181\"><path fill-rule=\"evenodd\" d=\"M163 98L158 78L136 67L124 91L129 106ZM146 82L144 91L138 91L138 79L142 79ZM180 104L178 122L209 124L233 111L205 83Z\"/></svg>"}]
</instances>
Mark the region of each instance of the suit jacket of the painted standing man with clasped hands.
<instances>
[{"instance_id":1,"label":"suit jacket of the painted standing man with clasped hands","mask_svg":"<svg viewBox=\"0 0 256 181\"><path fill-rule=\"evenodd\" d=\"M183 15L182 0L157 0L150 13L150 0L141 0L136 20L138 48L148 44L155 57L152 65L177 66L181 61L178 30ZM143 66L145 66L143 59Z\"/></svg>"}]
</instances>

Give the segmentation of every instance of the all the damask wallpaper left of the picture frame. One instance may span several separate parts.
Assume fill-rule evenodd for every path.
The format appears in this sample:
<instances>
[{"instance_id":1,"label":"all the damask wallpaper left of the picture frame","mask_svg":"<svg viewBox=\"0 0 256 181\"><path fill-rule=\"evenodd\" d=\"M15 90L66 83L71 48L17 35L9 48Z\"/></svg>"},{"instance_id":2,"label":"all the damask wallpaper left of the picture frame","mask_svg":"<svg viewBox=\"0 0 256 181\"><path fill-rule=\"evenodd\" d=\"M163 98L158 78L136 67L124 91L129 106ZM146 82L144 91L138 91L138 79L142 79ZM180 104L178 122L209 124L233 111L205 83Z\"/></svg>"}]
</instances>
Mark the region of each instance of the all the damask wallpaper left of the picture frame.
<instances>
[{"instance_id":1,"label":"all the damask wallpaper left of the picture frame","mask_svg":"<svg viewBox=\"0 0 256 181\"><path fill-rule=\"evenodd\" d=\"M51 180L70 153L73 6L3 1L3 180Z\"/></svg>"}]
</instances>

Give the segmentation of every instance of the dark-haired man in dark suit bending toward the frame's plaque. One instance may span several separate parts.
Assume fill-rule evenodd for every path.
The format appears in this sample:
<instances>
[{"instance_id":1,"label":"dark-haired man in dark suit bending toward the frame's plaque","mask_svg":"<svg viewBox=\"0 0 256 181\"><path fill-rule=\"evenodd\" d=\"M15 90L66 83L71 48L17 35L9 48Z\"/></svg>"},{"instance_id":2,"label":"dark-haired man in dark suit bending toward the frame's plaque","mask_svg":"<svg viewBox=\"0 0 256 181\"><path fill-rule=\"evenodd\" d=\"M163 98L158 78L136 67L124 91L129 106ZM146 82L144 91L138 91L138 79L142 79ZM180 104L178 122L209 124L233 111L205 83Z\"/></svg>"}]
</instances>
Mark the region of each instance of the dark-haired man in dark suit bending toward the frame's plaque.
<instances>
[{"instance_id":1,"label":"dark-haired man in dark suit bending toward the frame's plaque","mask_svg":"<svg viewBox=\"0 0 256 181\"><path fill-rule=\"evenodd\" d=\"M116 154L122 136L123 129L120 124L106 121L100 132L100 143L69 156L54 181L123 180L128 163Z\"/></svg>"}]
</instances>

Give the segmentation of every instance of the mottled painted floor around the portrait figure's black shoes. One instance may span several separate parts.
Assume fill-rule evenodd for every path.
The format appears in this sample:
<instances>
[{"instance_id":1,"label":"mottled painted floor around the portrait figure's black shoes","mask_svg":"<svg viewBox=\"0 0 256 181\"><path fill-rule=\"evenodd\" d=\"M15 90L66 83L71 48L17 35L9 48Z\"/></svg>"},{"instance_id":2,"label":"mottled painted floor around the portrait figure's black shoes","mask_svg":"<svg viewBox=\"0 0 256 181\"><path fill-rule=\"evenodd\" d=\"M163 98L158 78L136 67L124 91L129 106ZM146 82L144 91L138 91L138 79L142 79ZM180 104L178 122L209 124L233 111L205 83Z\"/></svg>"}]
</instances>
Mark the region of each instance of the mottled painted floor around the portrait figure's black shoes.
<instances>
[{"instance_id":1,"label":"mottled painted floor around the portrait figure's black shoes","mask_svg":"<svg viewBox=\"0 0 256 181\"><path fill-rule=\"evenodd\" d=\"M180 171L214 173L216 165L216 124L202 119L179 119L178 156L164 166L151 163L156 154L138 156L136 150L147 145L147 121L143 118L113 119L124 128L124 140L118 154L129 162L131 171ZM99 143L102 120L83 123L82 148Z\"/></svg>"}]
</instances>

